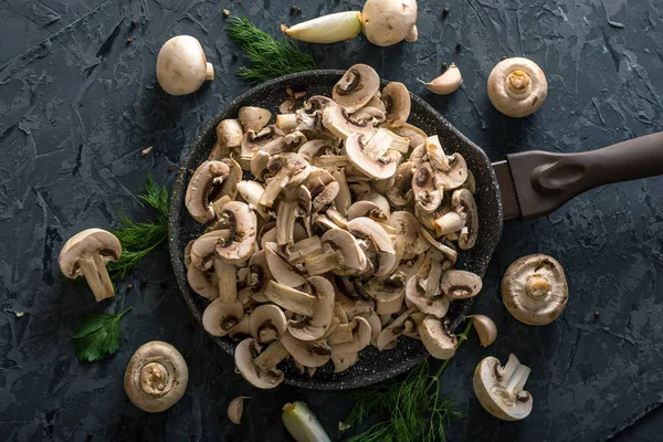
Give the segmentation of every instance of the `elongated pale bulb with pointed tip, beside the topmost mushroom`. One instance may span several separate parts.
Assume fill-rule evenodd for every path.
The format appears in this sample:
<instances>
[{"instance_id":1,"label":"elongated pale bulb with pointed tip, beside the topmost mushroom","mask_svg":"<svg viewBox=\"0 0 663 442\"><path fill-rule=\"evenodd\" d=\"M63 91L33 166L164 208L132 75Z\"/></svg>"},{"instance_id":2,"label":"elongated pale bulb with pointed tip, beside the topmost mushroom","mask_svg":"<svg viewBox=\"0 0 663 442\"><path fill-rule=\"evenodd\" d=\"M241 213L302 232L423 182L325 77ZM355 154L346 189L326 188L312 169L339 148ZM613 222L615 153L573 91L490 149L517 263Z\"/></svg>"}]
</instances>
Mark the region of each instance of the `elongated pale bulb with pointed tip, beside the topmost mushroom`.
<instances>
[{"instance_id":1,"label":"elongated pale bulb with pointed tip, beside the topmost mushroom","mask_svg":"<svg viewBox=\"0 0 663 442\"><path fill-rule=\"evenodd\" d=\"M361 32L361 12L347 11L318 17L294 27L281 25L287 36L308 43L337 43Z\"/></svg>"}]
</instances>

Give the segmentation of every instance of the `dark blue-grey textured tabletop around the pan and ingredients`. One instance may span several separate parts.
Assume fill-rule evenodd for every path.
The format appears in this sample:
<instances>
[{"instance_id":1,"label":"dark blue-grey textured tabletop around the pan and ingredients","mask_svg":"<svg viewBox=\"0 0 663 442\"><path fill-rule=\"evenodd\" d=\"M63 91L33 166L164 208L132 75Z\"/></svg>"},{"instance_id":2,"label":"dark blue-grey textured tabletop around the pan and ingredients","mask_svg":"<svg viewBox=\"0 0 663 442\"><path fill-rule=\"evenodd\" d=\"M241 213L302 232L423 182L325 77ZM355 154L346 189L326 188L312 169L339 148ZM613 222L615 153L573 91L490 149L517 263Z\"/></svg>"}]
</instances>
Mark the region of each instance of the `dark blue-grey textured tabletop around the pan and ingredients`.
<instances>
[{"instance_id":1,"label":"dark blue-grey textured tabletop around the pan and ingredients","mask_svg":"<svg viewBox=\"0 0 663 442\"><path fill-rule=\"evenodd\" d=\"M315 46L319 67L371 64L429 99L493 160L527 149L585 151L663 129L661 1L419 3L415 44L378 49L359 38ZM302 1L301 15L292 15L291 6L0 4L0 439L281 441L281 407L296 399L335 434L351 406L340 394L285 386L256 391L234 375L232 359L188 312L166 249L101 304L57 269L57 253L73 233L116 227L118 213L147 217L135 197L147 175L170 185L170 166L206 120L248 90L233 75L243 61L233 57L239 49L223 31L223 8L276 33L280 22L361 2ZM155 60L160 45L181 33L202 42L217 78L196 94L171 97L156 84ZM503 117L486 96L491 69L512 55L535 60L549 82L546 104L525 119ZM455 62L464 75L450 97L433 96L417 82L436 76L442 62ZM143 157L147 146L154 149ZM590 191L545 219L505 224L474 309L495 319L499 337L487 349L472 338L444 373L442 392L466 413L449 427L450 440L604 440L656 408L663 400L662 208L663 179L652 178ZM539 328L513 319L498 292L506 266L532 252L557 257L570 286L564 316ZM127 306L134 309L123 319L120 350L101 364L78 364L72 333L81 314ZM122 382L130 355L152 339L173 344L190 369L187 394L159 414L133 407ZM533 369L534 411L517 423L490 417L471 387L483 357L505 360L509 351ZM252 399L238 427L225 407L239 394ZM651 411L618 440L660 440L661 418L663 411Z\"/></svg>"}]
</instances>

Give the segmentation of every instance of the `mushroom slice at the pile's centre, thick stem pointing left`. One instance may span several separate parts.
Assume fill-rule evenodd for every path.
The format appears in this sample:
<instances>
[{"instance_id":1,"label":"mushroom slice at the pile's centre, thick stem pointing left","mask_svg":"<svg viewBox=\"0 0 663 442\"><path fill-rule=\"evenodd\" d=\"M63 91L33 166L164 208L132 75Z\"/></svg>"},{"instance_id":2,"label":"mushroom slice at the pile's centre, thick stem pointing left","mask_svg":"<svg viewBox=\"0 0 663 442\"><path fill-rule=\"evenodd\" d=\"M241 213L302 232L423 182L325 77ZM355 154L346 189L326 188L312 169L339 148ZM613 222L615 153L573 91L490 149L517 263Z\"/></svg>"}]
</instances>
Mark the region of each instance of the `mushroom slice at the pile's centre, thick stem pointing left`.
<instances>
[{"instance_id":1,"label":"mushroom slice at the pile's centre, thick stem pointing left","mask_svg":"<svg viewBox=\"0 0 663 442\"><path fill-rule=\"evenodd\" d=\"M309 275L334 272L337 275L356 275L366 267L366 255L348 231L329 229L320 238L323 253L304 260Z\"/></svg>"}]
</instances>

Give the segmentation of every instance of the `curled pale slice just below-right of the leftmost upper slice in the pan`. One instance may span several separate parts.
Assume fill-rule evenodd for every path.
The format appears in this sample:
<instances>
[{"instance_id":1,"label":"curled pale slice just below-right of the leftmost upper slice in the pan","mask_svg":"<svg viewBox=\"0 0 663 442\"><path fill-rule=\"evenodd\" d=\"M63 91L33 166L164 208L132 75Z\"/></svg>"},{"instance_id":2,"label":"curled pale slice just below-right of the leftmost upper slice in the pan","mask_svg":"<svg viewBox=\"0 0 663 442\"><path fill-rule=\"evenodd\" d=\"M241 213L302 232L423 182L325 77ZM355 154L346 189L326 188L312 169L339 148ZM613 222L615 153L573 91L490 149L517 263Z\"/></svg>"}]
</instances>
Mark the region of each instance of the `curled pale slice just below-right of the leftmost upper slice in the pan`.
<instances>
[{"instance_id":1,"label":"curled pale slice just below-right of the leftmost upper slice in the pan","mask_svg":"<svg viewBox=\"0 0 663 442\"><path fill-rule=\"evenodd\" d=\"M215 251L230 264L245 263L255 245L257 220L248 204L231 201L223 206L220 219L230 227L228 240L219 239ZM196 244L193 244L196 248ZM191 256L193 257L193 255Z\"/></svg>"}]
</instances>

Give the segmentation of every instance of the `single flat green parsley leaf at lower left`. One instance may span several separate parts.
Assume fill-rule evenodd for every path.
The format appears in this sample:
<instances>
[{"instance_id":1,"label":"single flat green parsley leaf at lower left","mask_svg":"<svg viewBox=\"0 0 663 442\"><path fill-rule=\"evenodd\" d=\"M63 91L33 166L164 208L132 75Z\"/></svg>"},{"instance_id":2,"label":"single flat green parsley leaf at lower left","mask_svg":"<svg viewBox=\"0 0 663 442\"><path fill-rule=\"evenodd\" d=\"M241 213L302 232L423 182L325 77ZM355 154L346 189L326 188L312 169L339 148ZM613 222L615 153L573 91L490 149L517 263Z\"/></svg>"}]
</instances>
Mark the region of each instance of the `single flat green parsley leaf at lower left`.
<instances>
[{"instance_id":1,"label":"single flat green parsley leaf at lower left","mask_svg":"<svg viewBox=\"0 0 663 442\"><path fill-rule=\"evenodd\" d=\"M86 313L81 317L81 326L74 333L76 358L81 362L96 362L119 348L119 319L131 309L117 315Z\"/></svg>"}]
</instances>

